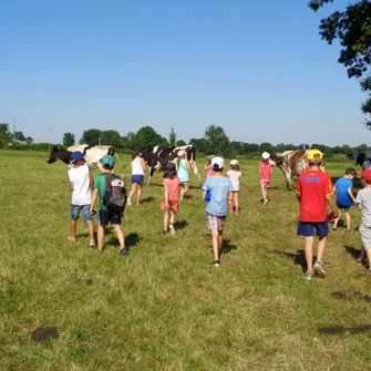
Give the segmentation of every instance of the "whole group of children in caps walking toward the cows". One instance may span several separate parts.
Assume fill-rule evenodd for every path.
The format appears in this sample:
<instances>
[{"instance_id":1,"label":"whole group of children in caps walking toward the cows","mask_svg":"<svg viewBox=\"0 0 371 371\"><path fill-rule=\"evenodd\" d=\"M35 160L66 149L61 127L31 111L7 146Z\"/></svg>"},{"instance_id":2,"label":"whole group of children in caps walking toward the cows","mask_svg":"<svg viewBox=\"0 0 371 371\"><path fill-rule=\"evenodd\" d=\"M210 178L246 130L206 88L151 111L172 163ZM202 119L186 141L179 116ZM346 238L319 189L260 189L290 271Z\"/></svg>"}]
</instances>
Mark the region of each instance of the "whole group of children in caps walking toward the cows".
<instances>
[{"instance_id":1,"label":"whole group of children in caps walking toward the cows","mask_svg":"<svg viewBox=\"0 0 371 371\"><path fill-rule=\"evenodd\" d=\"M164 169L164 195L161 203L161 209L164 212L163 234L175 235L175 215L179 209L179 202L188 190L189 182L189 164L186 159L186 153L179 151L177 166L168 163ZM262 195L262 204L269 202L267 190L270 187L272 174L272 165L269 161L269 153L262 153L259 165L260 189ZM84 156L81 152L74 152L71 156L73 168L69 171L70 187L72 190L71 203L71 235L69 241L76 239L76 220L79 214L83 210L84 220L89 226L91 247L95 247L93 215L95 214L94 204L100 197L99 210L99 228L97 228L97 248L103 250L104 228L111 223L120 241L120 254L126 255L125 237L122 230L123 215L109 210L103 203L105 193L105 173L112 174L115 165L113 156L103 157L104 173L100 174L93 182L91 172L89 171ZM360 266L365 264L365 258L371 261L371 169L364 169L361 174L363 189L357 197L352 193L352 181L357 177L354 168L347 168L346 175L338 179L334 187L332 186L330 176L321 169L323 163L323 154L318 150L311 150L307 153L308 169L300 174L296 186L296 194L300 204L300 214L298 221L299 236L305 237L305 255L307 261L307 271L305 277L311 279L315 275L319 277L326 276L324 265L322 261L323 253L327 245L327 236L329 234L328 221L334 219L332 229L338 228L338 221L341 212L346 214L347 227L350 230L350 213L352 205L358 205L362 213L362 223L359 227L362 238L362 251L358 260ZM205 165L207 178L202 187L202 199L207 200L206 214L208 229L212 231L213 240L213 265L220 265L220 255L223 247L223 229L226 216L233 210L239 215L239 179L241 172L237 159L229 163L230 168L223 175L225 161L223 157L209 156ZM131 198L136 193L136 200L140 203L142 195L142 186L144 182L145 162L142 158L142 151L135 148L132 161L132 189L127 198L131 205ZM333 194L337 194L334 202ZM332 213L328 214L328 207ZM319 237L317 259L313 261L313 236ZM370 268L368 269L370 271Z\"/></svg>"}]
</instances>

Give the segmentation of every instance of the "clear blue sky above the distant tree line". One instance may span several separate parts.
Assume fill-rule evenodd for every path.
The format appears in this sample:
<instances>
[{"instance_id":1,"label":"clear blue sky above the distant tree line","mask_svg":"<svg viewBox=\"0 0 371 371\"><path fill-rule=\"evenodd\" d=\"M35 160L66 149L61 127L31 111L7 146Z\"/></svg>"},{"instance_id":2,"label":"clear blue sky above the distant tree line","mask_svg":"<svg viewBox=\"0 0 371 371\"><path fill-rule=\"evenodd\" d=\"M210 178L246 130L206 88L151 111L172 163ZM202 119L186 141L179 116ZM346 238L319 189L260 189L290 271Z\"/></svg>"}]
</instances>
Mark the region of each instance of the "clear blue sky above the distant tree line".
<instances>
[{"instance_id":1,"label":"clear blue sky above the distant tree line","mask_svg":"<svg viewBox=\"0 0 371 371\"><path fill-rule=\"evenodd\" d=\"M246 143L369 143L365 99L306 0L6 0L0 122L34 142L152 126Z\"/></svg>"}]
</instances>

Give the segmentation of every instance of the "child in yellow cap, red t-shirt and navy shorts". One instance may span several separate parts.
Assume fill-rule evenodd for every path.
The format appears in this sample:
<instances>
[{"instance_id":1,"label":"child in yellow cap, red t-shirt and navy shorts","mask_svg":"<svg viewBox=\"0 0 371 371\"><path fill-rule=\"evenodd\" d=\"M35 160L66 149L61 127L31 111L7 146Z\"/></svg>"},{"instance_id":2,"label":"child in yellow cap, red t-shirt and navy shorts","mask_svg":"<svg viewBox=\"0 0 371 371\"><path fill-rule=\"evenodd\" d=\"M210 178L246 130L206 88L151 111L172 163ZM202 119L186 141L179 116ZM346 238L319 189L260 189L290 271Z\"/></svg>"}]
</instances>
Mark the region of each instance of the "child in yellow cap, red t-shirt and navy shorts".
<instances>
[{"instance_id":1,"label":"child in yellow cap, red t-shirt and navy shorts","mask_svg":"<svg viewBox=\"0 0 371 371\"><path fill-rule=\"evenodd\" d=\"M295 192L300 204L300 215L298 223L298 236L305 236L306 240L306 260L307 271L305 277L312 279L315 272L319 277L324 277L324 265L322 256L327 244L329 226L327 223L327 204L331 207L333 215L338 217L339 210L332 198L333 187L331 178L321 171L323 154L318 150L311 150L307 153L309 169L301 173ZM317 260L313 265L313 236L319 238Z\"/></svg>"}]
</instances>

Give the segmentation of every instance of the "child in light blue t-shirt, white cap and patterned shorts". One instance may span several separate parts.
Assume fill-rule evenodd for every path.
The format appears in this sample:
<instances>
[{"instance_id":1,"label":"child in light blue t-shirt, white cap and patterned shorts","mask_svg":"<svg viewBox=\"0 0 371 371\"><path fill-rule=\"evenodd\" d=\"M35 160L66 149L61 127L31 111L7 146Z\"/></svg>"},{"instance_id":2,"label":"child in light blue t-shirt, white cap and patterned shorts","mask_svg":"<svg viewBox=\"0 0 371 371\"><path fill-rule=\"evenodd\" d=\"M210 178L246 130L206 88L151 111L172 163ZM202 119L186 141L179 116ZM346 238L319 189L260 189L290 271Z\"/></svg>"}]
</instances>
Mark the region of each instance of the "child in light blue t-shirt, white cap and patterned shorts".
<instances>
[{"instance_id":1,"label":"child in light blue t-shirt, white cap and patterned shorts","mask_svg":"<svg viewBox=\"0 0 371 371\"><path fill-rule=\"evenodd\" d=\"M213 265L220 266L220 255L223 248L223 229L227 216L227 203L233 199L233 185L228 177L223 176L224 158L214 157L212 159L214 176L206 178L203 185L203 199L209 190L210 200L206 206L208 229L212 230L213 238Z\"/></svg>"}]
</instances>

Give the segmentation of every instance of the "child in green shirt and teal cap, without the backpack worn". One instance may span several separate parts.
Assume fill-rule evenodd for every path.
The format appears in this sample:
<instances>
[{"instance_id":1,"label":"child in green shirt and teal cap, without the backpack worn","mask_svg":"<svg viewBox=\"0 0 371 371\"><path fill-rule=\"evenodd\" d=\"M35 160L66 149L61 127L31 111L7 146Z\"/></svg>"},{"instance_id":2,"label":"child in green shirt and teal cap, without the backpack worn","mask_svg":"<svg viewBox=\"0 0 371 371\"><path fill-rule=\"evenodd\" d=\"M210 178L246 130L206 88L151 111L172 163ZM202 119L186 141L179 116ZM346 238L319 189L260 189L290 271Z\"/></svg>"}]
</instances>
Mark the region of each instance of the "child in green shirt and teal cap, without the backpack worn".
<instances>
[{"instance_id":1,"label":"child in green shirt and teal cap, without the backpack worn","mask_svg":"<svg viewBox=\"0 0 371 371\"><path fill-rule=\"evenodd\" d=\"M103 244L104 244L104 228L110 223L112 224L113 229L117 235L117 239L120 243L120 254L126 255L128 250L125 247L125 236L124 231L122 230L121 224L123 215L122 213L114 213L109 210L103 203L103 198L105 195L105 184L106 177L104 174L113 174L113 169L115 166L115 158L111 155L106 155L102 158L103 165L103 173L100 174L94 181L94 190L91 204L91 214L94 213L94 204L97 197L100 197L100 212L97 218L97 248L100 251L103 251Z\"/></svg>"}]
</instances>

